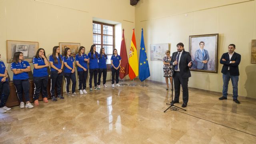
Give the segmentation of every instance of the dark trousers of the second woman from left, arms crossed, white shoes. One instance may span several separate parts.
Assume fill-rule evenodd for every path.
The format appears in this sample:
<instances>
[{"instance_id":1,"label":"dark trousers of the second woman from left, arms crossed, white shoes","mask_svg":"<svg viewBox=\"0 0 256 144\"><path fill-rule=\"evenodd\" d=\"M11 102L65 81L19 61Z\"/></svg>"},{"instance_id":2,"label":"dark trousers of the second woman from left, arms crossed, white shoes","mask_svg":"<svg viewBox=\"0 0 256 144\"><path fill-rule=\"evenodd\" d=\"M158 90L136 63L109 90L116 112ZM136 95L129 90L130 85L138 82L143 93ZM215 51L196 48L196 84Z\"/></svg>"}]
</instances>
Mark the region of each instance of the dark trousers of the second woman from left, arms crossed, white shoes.
<instances>
[{"instance_id":1,"label":"dark trousers of the second woman from left, arms crossed, white shoes","mask_svg":"<svg viewBox=\"0 0 256 144\"><path fill-rule=\"evenodd\" d=\"M19 101L23 102L23 92L24 92L26 102L30 101L30 98L29 98L29 88L30 88L29 80L28 79L27 80L13 80L13 84L16 88Z\"/></svg>"}]
</instances>

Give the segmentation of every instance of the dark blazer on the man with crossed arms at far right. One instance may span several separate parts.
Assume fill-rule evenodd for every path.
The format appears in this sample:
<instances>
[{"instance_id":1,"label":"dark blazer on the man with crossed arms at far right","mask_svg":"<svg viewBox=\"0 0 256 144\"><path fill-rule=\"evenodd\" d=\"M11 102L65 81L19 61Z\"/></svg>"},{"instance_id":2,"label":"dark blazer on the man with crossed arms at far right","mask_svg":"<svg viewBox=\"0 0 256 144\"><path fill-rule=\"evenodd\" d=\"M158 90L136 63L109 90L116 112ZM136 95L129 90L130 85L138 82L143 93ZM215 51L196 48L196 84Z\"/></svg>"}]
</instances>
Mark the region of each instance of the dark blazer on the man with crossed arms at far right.
<instances>
[{"instance_id":1,"label":"dark blazer on the man with crossed arms at far right","mask_svg":"<svg viewBox=\"0 0 256 144\"><path fill-rule=\"evenodd\" d=\"M222 58L224 58L226 61L223 61ZM230 61L236 61L233 64L230 64ZM228 73L228 67L229 67L229 74L232 76L239 76L239 69L238 65L240 64L241 61L241 55L234 52L233 56L231 57L231 60L229 59L229 54L228 52L222 54L220 58L220 64L223 64L222 66L222 74L227 74Z\"/></svg>"}]
</instances>

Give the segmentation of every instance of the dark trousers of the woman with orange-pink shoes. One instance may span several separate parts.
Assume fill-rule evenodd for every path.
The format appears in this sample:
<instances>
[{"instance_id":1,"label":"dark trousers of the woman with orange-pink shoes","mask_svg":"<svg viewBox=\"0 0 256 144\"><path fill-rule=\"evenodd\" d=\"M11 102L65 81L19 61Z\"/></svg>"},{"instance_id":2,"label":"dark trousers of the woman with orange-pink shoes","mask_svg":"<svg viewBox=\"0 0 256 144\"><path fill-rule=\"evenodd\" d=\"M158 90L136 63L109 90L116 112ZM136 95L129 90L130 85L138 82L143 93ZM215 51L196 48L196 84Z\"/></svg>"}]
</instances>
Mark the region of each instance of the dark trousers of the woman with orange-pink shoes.
<instances>
[{"instance_id":1,"label":"dark trousers of the woman with orange-pink shoes","mask_svg":"<svg viewBox=\"0 0 256 144\"><path fill-rule=\"evenodd\" d=\"M42 97L47 98L47 86L48 86L48 76L33 77L34 79L34 100L38 100L39 94L42 91Z\"/></svg>"}]
</instances>

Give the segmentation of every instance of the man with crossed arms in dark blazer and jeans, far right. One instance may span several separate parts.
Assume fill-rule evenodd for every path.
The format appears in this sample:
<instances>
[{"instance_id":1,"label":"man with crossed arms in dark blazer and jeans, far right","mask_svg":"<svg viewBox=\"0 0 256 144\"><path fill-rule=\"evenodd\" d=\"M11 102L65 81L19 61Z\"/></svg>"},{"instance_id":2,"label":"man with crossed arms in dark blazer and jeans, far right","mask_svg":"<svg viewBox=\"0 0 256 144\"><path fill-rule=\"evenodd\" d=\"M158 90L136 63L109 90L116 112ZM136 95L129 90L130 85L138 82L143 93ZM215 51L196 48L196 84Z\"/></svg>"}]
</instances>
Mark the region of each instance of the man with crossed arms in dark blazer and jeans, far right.
<instances>
[{"instance_id":1,"label":"man with crossed arms in dark blazer and jeans, far right","mask_svg":"<svg viewBox=\"0 0 256 144\"><path fill-rule=\"evenodd\" d=\"M241 55L235 52L236 45L230 44L228 46L228 52L222 54L220 58L220 64L222 66L222 78L223 78L223 89L222 89L222 97L219 100L226 100L228 96L228 82L231 78L232 86L233 86L233 100L237 104L240 104L238 97L238 76L239 69L238 65L241 61Z\"/></svg>"}]
</instances>

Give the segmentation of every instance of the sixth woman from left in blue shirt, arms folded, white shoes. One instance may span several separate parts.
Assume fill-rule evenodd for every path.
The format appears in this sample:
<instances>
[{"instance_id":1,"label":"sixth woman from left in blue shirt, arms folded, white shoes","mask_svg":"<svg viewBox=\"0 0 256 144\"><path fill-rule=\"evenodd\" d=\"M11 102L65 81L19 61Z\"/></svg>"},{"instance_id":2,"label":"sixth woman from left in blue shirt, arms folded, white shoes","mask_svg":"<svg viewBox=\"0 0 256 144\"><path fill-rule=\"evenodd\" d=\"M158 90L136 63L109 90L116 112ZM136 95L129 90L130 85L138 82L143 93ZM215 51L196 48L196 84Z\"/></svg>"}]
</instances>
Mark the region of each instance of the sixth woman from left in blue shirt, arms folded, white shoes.
<instances>
[{"instance_id":1,"label":"sixth woman from left in blue shirt, arms folded, white shoes","mask_svg":"<svg viewBox=\"0 0 256 144\"><path fill-rule=\"evenodd\" d=\"M89 63L89 59L85 54L84 46L80 46L78 50L78 54L76 54L76 65L77 65L77 74L79 80L79 93L87 94L86 92L86 79L88 76L88 68L87 63Z\"/></svg>"}]
</instances>

